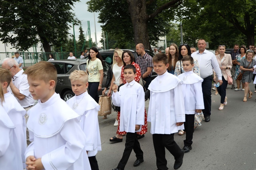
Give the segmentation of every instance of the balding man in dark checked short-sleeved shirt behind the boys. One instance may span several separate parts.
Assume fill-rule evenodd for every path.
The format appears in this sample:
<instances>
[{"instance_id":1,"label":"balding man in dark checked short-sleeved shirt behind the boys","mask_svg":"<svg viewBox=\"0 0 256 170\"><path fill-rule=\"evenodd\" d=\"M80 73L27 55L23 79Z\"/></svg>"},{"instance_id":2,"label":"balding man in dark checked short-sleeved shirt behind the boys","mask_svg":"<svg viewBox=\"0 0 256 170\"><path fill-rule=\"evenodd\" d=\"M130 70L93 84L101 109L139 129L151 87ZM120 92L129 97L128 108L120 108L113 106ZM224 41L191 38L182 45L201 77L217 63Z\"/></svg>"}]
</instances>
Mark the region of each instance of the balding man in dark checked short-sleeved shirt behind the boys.
<instances>
[{"instance_id":1,"label":"balding man in dark checked short-sleeved shirt behind the boys","mask_svg":"<svg viewBox=\"0 0 256 170\"><path fill-rule=\"evenodd\" d=\"M145 88L151 83L151 76L153 70L152 57L145 52L145 47L143 44L137 44L136 52L138 57L136 58L136 63L140 66L141 76L144 81L146 81Z\"/></svg>"}]
</instances>

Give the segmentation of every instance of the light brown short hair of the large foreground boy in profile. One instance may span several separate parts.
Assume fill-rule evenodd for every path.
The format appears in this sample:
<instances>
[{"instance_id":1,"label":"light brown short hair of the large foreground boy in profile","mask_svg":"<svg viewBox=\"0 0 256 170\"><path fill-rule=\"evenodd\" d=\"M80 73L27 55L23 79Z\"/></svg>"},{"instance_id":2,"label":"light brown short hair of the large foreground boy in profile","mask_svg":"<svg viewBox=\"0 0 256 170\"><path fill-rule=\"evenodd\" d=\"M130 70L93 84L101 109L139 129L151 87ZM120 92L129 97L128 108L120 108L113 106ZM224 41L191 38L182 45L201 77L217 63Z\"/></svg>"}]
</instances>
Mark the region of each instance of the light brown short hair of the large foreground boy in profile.
<instances>
[{"instance_id":1,"label":"light brown short hair of the large foreground boy in profile","mask_svg":"<svg viewBox=\"0 0 256 170\"><path fill-rule=\"evenodd\" d=\"M23 74L27 74L31 79L43 80L45 83L54 80L55 87L57 84L57 70L55 66L46 61L38 62L28 67ZM54 88L55 88L54 87Z\"/></svg>"}]
</instances>

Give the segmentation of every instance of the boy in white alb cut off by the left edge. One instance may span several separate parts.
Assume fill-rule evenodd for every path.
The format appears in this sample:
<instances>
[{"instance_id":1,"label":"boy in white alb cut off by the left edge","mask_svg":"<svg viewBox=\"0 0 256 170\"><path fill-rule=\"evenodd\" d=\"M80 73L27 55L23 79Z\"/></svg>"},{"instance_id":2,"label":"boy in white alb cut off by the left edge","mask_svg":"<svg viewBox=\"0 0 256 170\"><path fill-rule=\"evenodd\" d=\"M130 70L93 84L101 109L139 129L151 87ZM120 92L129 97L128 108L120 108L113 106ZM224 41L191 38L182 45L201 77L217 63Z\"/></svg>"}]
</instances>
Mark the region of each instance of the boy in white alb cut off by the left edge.
<instances>
[{"instance_id":1,"label":"boy in white alb cut off by the left edge","mask_svg":"<svg viewBox=\"0 0 256 170\"><path fill-rule=\"evenodd\" d=\"M22 170L22 156L21 150L18 149L19 140L14 131L15 126L5 112L2 102L4 102L4 94L0 86L0 169Z\"/></svg>"}]
</instances>

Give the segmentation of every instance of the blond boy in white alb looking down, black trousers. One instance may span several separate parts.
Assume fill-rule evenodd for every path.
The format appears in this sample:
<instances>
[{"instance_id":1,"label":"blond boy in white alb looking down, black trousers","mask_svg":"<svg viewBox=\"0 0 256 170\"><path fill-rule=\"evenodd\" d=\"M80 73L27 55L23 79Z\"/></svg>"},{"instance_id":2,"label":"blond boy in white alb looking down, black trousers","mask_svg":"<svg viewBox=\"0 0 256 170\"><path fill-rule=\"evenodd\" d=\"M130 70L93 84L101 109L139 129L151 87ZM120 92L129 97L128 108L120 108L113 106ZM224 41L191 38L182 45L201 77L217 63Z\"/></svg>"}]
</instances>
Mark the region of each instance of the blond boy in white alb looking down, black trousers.
<instances>
[{"instance_id":1,"label":"blond boy in white alb looking down, black trousers","mask_svg":"<svg viewBox=\"0 0 256 170\"><path fill-rule=\"evenodd\" d=\"M88 74L82 70L74 70L69 79L75 94L67 101L68 105L80 116L80 125L86 136L84 154L90 162L92 170L99 170L96 154L101 151L100 129L98 122L99 104L88 94Z\"/></svg>"}]
</instances>

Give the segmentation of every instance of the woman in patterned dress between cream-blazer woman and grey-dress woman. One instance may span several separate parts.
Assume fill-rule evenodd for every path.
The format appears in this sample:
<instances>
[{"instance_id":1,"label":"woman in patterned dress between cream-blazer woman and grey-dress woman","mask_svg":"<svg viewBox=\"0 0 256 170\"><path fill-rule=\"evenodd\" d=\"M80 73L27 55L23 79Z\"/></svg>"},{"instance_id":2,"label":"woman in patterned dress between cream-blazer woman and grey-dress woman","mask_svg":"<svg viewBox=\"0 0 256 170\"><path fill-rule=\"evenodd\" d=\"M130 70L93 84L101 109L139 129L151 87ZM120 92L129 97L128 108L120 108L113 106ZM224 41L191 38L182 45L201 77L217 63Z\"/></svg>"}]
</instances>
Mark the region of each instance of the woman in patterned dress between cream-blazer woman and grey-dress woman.
<instances>
[{"instance_id":1,"label":"woman in patterned dress between cream-blazer woman and grey-dress woman","mask_svg":"<svg viewBox=\"0 0 256 170\"><path fill-rule=\"evenodd\" d=\"M240 90L241 80L237 80L237 76L241 72L241 70L240 70L240 62L241 62L241 59L245 57L246 48L244 46L241 46L239 48L238 52L239 52L239 54L236 56L236 60L235 60L235 63L237 65L236 73L235 73L235 76L234 76L234 80L236 80L236 82L237 82L237 88L235 89L235 91L239 91ZM242 83L242 90L244 90L244 84L243 83Z\"/></svg>"}]
</instances>

